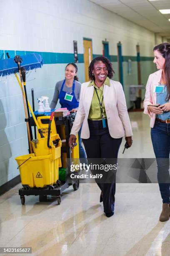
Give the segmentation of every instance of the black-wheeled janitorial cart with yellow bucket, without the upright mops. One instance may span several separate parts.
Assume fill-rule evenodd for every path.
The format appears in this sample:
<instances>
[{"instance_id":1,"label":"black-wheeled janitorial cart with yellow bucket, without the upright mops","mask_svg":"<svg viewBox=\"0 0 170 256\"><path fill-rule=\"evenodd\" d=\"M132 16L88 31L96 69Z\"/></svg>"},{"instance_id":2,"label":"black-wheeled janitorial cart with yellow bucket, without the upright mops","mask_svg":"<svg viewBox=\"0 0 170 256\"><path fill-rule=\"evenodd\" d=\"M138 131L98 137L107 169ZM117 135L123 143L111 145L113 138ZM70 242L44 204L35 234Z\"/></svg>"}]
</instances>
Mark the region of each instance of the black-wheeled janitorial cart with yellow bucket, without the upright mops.
<instances>
[{"instance_id":1,"label":"black-wheeled janitorial cart with yellow bucket, without the upright mops","mask_svg":"<svg viewBox=\"0 0 170 256\"><path fill-rule=\"evenodd\" d=\"M66 188L70 185L74 190L79 188L79 180L70 179L70 165L79 159L78 138L73 150L68 146L75 114L54 119L46 115L36 117L44 138L37 135L37 139L32 140L34 154L16 158L23 184L19 190L21 203L25 204L25 195L39 195L40 201L51 195L56 196L60 204L61 194ZM33 118L30 118L30 125L35 125Z\"/></svg>"}]
</instances>

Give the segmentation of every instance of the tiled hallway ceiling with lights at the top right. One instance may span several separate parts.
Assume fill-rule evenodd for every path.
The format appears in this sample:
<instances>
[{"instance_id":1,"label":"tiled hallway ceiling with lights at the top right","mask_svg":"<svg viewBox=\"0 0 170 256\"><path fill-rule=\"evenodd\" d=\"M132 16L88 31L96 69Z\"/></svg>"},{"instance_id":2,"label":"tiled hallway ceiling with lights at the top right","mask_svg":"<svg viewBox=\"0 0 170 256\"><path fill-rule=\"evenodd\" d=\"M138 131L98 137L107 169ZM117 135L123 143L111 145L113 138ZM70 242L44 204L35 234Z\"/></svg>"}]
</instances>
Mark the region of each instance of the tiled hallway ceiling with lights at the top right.
<instances>
[{"instance_id":1,"label":"tiled hallway ceiling with lights at the top right","mask_svg":"<svg viewBox=\"0 0 170 256\"><path fill-rule=\"evenodd\" d=\"M91 0L91 2L116 13L144 28L170 38L170 14L160 9L170 9L170 0Z\"/></svg>"}]
</instances>

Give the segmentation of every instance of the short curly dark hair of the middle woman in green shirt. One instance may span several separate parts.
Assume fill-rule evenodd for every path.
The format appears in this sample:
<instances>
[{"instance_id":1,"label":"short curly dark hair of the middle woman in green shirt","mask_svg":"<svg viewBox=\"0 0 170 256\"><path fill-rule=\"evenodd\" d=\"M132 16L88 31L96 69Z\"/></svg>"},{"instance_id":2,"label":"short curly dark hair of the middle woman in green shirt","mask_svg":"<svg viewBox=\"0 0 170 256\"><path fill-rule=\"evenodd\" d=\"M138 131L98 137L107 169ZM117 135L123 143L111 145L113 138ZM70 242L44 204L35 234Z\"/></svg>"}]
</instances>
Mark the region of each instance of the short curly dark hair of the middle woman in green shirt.
<instances>
[{"instance_id":1,"label":"short curly dark hair of the middle woman in green shirt","mask_svg":"<svg viewBox=\"0 0 170 256\"><path fill-rule=\"evenodd\" d=\"M98 56L90 62L90 65L89 65L89 68L88 68L88 75L89 75L90 80L95 79L95 77L92 75L92 70L94 70L94 64L97 61L102 61L106 65L107 70L108 70L107 77L112 78L113 74L115 74L115 71L112 69L112 63L106 57Z\"/></svg>"}]
</instances>

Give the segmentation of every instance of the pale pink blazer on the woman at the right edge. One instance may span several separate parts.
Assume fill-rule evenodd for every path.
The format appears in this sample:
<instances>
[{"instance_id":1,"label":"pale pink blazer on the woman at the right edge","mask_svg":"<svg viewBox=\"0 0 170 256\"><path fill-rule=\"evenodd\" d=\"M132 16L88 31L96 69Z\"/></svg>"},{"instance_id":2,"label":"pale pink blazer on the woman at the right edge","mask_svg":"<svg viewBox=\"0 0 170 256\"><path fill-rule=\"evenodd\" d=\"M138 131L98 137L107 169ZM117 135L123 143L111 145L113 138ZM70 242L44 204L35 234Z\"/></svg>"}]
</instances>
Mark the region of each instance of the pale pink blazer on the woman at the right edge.
<instances>
[{"instance_id":1,"label":"pale pink blazer on the woman at the right edge","mask_svg":"<svg viewBox=\"0 0 170 256\"><path fill-rule=\"evenodd\" d=\"M150 116L150 127L153 128L155 124L155 116L154 113L149 113L148 105L155 105L156 103L156 92L153 92L155 85L158 85L162 76L163 70L160 69L157 72L150 74L148 78L148 82L146 84L146 92L145 92L145 100L143 102L144 105L144 114L148 114Z\"/></svg>"}]
</instances>

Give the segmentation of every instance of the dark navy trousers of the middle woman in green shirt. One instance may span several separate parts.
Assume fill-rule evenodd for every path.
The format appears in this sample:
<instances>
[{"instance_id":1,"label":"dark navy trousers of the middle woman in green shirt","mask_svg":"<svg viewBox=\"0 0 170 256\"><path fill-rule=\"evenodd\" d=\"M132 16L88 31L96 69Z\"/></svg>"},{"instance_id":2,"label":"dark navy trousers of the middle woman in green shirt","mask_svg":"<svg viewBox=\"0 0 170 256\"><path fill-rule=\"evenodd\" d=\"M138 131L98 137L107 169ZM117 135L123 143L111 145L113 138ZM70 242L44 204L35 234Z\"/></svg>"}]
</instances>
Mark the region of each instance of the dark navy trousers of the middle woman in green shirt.
<instances>
[{"instance_id":1,"label":"dark navy trousers of the middle woman in green shirt","mask_svg":"<svg viewBox=\"0 0 170 256\"><path fill-rule=\"evenodd\" d=\"M88 124L90 129L90 138L82 139L85 146L87 159L117 159L122 138L112 138L110 136L107 122L106 128L102 127L101 120L88 120ZM116 190L115 182L97 183L97 185L100 187L103 193L104 212L114 212Z\"/></svg>"}]
</instances>

